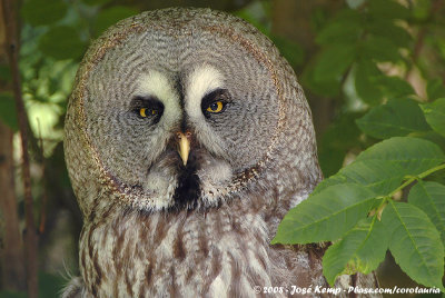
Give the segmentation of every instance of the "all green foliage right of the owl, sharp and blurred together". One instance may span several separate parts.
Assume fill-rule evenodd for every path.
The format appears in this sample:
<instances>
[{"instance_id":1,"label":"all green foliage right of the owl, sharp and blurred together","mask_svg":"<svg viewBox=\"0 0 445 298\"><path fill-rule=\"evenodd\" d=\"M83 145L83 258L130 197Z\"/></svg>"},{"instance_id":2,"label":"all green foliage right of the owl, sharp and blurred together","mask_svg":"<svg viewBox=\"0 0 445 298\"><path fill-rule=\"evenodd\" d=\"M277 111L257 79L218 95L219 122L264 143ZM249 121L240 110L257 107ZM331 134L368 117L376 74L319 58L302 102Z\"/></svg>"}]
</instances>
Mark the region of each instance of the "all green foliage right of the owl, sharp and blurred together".
<instances>
[{"instance_id":1,"label":"all green foliage right of the owl, sharp and blurred together","mask_svg":"<svg viewBox=\"0 0 445 298\"><path fill-rule=\"evenodd\" d=\"M320 27L303 76L310 91L342 105L319 142L328 178L285 216L271 244L333 241L323 258L330 285L369 274L389 250L413 280L445 290L445 86L428 78L418 57L425 37L413 33L436 11L429 1L347 3L353 9ZM445 38L437 40L445 53ZM407 80L413 70L426 92Z\"/></svg>"}]
</instances>

